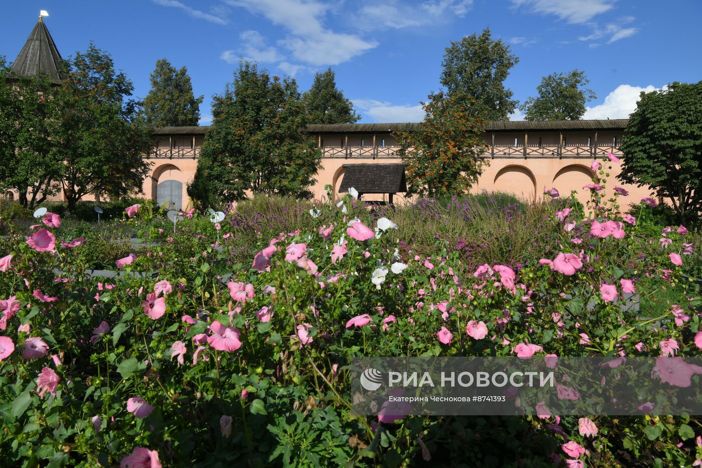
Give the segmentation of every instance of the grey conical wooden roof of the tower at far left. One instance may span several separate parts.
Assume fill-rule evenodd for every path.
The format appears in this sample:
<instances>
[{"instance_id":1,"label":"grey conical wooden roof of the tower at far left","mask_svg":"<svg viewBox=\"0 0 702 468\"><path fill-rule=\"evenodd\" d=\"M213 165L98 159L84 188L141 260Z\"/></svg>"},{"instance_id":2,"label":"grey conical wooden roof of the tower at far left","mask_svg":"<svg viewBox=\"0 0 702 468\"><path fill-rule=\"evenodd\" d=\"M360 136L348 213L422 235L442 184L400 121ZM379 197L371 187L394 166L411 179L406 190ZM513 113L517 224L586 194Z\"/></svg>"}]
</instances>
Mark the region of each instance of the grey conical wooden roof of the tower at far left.
<instances>
[{"instance_id":1,"label":"grey conical wooden roof of the tower at far left","mask_svg":"<svg viewBox=\"0 0 702 468\"><path fill-rule=\"evenodd\" d=\"M63 79L60 73L62 60L51 34L48 33L44 21L39 17L39 21L34 26L32 33L29 34L20 55L12 64L12 70L25 77L32 77L43 72L51 77L51 82L59 84Z\"/></svg>"}]
</instances>

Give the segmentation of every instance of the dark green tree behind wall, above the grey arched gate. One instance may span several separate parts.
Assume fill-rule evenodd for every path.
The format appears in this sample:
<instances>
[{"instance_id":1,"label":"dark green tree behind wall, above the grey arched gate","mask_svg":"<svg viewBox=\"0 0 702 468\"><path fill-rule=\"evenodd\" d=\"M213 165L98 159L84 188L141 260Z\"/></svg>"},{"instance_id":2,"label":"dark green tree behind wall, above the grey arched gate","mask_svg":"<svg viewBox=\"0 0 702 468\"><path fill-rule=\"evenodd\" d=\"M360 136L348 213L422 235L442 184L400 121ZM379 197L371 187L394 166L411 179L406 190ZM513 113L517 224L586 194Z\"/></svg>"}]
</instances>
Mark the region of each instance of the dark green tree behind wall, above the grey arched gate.
<instances>
[{"instance_id":1,"label":"dark green tree behind wall, above the grey arched gate","mask_svg":"<svg viewBox=\"0 0 702 468\"><path fill-rule=\"evenodd\" d=\"M146 122L152 126L192 126L200 119L203 96L195 98L187 68L176 70L165 58L156 61L151 90L144 99Z\"/></svg>"}]
</instances>

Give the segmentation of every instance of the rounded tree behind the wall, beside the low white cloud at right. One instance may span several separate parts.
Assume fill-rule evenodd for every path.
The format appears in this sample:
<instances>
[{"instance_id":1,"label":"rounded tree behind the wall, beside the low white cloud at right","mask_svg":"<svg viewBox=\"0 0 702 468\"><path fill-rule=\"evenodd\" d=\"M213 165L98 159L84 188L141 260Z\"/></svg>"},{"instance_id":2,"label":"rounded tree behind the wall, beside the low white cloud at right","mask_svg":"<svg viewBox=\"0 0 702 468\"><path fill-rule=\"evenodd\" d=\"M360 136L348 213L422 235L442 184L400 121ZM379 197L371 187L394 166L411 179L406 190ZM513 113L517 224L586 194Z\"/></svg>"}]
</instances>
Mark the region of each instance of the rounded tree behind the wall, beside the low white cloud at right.
<instances>
[{"instance_id":1,"label":"rounded tree behind the wall, beside the low white cloud at right","mask_svg":"<svg viewBox=\"0 0 702 468\"><path fill-rule=\"evenodd\" d=\"M578 120L585 114L585 103L597 99L595 91L585 88L590 80L578 69L553 73L541 79L538 96L527 99L519 109L527 120Z\"/></svg>"}]
</instances>

